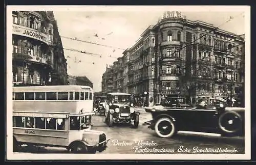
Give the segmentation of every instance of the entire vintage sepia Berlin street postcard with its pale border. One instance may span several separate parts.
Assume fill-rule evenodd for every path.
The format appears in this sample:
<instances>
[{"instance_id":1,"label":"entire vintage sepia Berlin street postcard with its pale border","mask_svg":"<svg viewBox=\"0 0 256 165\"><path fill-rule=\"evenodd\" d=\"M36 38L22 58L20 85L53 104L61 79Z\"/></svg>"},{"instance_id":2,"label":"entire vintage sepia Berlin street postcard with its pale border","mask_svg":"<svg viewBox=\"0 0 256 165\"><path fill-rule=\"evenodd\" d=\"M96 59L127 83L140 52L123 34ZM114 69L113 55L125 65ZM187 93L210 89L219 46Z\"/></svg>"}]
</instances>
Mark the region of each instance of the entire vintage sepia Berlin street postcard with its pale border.
<instances>
[{"instance_id":1,"label":"entire vintage sepia Berlin street postcard with its pale border","mask_svg":"<svg viewBox=\"0 0 256 165\"><path fill-rule=\"evenodd\" d=\"M8 160L250 159L249 6L6 18Z\"/></svg>"}]
</instances>

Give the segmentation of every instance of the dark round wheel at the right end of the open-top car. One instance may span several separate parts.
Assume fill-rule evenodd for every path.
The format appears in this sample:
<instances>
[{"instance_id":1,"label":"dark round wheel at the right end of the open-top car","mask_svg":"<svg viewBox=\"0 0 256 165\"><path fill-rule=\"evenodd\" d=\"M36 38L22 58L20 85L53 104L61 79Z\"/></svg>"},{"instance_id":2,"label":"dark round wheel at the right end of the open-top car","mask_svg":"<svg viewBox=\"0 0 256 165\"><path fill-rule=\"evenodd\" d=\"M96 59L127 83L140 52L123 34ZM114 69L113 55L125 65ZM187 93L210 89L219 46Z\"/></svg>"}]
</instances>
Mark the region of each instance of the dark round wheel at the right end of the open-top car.
<instances>
[{"instance_id":1,"label":"dark round wheel at the right end of the open-top car","mask_svg":"<svg viewBox=\"0 0 256 165\"><path fill-rule=\"evenodd\" d=\"M236 135L242 129L242 118L234 111L222 113L218 121L222 135Z\"/></svg>"}]
</instances>

